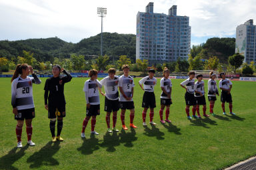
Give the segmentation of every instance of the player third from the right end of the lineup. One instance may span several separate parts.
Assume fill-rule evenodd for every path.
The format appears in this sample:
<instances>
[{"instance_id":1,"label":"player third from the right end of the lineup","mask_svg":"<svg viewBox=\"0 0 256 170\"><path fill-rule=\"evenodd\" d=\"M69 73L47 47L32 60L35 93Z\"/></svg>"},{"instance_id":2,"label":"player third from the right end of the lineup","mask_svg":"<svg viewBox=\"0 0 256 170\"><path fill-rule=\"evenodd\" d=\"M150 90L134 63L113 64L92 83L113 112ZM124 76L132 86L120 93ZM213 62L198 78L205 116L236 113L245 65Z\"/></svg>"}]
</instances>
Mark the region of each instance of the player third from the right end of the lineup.
<instances>
[{"instance_id":1,"label":"player third from the right end of the lineup","mask_svg":"<svg viewBox=\"0 0 256 170\"><path fill-rule=\"evenodd\" d=\"M203 116L209 117L206 112L206 102L205 102L205 82L203 81L203 75L197 75L197 82L195 82L195 100L197 101L197 115L200 115L200 105L203 105Z\"/></svg>"}]
</instances>

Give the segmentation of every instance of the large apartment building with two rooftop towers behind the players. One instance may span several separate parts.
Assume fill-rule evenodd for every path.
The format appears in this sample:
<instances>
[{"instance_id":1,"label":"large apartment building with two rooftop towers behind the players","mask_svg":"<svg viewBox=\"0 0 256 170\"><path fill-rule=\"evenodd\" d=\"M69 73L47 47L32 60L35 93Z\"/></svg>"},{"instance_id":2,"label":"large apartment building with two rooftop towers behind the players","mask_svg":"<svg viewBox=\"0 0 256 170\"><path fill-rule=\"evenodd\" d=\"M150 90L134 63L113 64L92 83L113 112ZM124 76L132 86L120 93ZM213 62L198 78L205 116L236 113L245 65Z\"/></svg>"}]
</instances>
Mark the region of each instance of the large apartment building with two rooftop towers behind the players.
<instances>
[{"instance_id":1,"label":"large apartment building with two rooftop towers behind the players","mask_svg":"<svg viewBox=\"0 0 256 170\"><path fill-rule=\"evenodd\" d=\"M169 14L154 13L153 3L137 13L136 59L147 59L149 65L188 59L191 45L189 17L177 16L177 6Z\"/></svg>"}]
</instances>

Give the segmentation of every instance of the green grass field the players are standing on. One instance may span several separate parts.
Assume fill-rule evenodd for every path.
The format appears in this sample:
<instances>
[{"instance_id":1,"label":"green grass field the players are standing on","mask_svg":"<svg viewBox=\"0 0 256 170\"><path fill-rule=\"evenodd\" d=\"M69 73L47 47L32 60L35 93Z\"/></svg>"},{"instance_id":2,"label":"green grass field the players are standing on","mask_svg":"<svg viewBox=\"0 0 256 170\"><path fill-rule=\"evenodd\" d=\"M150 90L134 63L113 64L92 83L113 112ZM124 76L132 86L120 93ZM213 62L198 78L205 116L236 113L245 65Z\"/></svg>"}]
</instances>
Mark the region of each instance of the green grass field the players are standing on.
<instances>
[{"instance_id":1,"label":"green grass field the players are standing on","mask_svg":"<svg viewBox=\"0 0 256 170\"><path fill-rule=\"evenodd\" d=\"M45 79L41 78L41 85L33 85L36 117L33 119L32 139L36 146L25 145L27 134L23 127L23 148L17 149L10 80L0 80L0 169L223 169L256 154L255 82L233 81L231 93L236 116L223 115L220 97L217 97L214 108L216 117L189 121L185 114L185 90L179 86L183 80L172 79L172 123L161 125L161 89L158 79L154 117L157 126L149 125L148 111L148 127L144 128L141 113L143 91L138 85L139 79L135 79L134 123L138 128L107 133L104 98L101 96L101 115L97 117L95 127L100 134L90 136L89 122L85 130L86 139L83 140L80 137L86 109L83 85L87 79L73 78L65 85L67 117L63 121L61 133L65 141L51 143L49 119L43 99ZM228 113L227 104L226 110ZM128 112L125 122L129 125ZM121 130L120 111L117 128Z\"/></svg>"}]
</instances>

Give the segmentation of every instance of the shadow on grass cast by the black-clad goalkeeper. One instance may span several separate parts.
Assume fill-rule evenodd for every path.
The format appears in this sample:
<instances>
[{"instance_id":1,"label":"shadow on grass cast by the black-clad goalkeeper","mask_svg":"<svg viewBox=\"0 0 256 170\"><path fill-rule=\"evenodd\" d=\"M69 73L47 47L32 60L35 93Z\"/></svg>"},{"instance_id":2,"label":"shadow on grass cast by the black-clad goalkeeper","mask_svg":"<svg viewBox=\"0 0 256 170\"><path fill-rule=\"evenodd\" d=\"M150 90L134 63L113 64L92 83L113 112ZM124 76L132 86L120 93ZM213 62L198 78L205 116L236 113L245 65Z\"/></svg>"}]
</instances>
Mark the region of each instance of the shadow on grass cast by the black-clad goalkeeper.
<instances>
[{"instance_id":1,"label":"shadow on grass cast by the black-clad goalkeeper","mask_svg":"<svg viewBox=\"0 0 256 170\"><path fill-rule=\"evenodd\" d=\"M41 166L55 166L59 165L59 161L53 158L53 155L59 151L59 141L52 143L49 141L39 151L33 153L28 159L27 163L31 163L30 168L39 168Z\"/></svg>"}]
</instances>

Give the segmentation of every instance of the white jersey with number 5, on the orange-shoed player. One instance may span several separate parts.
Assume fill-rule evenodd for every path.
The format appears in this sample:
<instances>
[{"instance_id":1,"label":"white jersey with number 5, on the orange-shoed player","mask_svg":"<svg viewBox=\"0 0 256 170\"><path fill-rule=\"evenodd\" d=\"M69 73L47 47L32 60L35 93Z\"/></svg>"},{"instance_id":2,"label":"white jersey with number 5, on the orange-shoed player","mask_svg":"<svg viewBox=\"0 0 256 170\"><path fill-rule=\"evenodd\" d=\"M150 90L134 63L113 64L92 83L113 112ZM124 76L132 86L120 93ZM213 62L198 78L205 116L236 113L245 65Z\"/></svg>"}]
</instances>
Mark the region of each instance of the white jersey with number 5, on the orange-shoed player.
<instances>
[{"instance_id":1,"label":"white jersey with number 5, on the orange-shoed player","mask_svg":"<svg viewBox=\"0 0 256 170\"><path fill-rule=\"evenodd\" d=\"M131 89L134 86L133 77L130 75L128 77L125 77L125 75L121 75L121 77L119 77L119 87L122 87L123 92L127 97L131 97ZM122 93L120 93L119 101L127 101L125 97L123 97ZM130 101L133 101L133 99Z\"/></svg>"}]
</instances>

